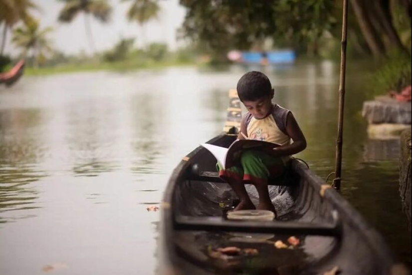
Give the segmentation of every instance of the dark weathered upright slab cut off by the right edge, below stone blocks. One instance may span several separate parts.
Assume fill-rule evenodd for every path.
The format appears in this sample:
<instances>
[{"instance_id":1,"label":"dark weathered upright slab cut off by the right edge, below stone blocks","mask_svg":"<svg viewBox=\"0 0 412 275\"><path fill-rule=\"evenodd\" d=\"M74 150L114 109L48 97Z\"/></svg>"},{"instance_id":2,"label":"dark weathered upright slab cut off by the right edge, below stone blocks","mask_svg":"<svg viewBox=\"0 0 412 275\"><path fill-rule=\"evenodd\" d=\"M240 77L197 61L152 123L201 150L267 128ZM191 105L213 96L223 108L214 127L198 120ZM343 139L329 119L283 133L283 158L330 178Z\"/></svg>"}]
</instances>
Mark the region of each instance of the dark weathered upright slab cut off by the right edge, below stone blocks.
<instances>
[{"instance_id":1,"label":"dark weathered upright slab cut off by the right edge, below stone blocks","mask_svg":"<svg viewBox=\"0 0 412 275\"><path fill-rule=\"evenodd\" d=\"M399 183L403 209L411 230L411 130L405 131L401 136Z\"/></svg>"}]
</instances>

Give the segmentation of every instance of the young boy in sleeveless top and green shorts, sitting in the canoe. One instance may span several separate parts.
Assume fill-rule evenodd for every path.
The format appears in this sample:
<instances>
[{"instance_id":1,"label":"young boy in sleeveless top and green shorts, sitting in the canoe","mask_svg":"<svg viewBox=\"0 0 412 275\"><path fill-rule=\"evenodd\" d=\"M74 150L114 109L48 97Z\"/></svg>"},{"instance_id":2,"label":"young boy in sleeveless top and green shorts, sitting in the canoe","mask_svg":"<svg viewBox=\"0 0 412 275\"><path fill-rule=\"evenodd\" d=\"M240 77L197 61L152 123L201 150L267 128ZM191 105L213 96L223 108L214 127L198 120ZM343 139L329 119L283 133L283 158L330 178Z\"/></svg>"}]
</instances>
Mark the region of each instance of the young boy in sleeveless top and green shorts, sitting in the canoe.
<instances>
[{"instance_id":1,"label":"young boy in sleeveless top and green shorts, sitting in the canoe","mask_svg":"<svg viewBox=\"0 0 412 275\"><path fill-rule=\"evenodd\" d=\"M240 165L226 170L218 163L219 176L240 199L235 210L256 209L244 186L245 182L249 182L259 194L257 209L270 210L276 214L269 196L268 179L279 177L285 172L291 155L306 148L306 139L292 112L272 103L274 89L265 74L256 71L246 73L239 80L237 91L248 110L242 119L238 139L246 137L282 146L244 151Z\"/></svg>"}]
</instances>

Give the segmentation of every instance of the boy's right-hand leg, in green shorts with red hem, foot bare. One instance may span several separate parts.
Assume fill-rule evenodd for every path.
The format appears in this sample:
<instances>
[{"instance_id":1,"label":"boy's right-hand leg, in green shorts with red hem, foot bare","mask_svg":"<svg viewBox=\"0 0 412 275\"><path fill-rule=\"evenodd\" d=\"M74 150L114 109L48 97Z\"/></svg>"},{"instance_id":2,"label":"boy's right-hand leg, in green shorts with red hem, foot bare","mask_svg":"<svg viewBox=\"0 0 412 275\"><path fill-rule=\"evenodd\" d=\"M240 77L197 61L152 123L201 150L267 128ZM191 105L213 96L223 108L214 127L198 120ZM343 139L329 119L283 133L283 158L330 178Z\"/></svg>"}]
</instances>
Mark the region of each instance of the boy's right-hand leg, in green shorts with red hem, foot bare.
<instances>
[{"instance_id":1,"label":"boy's right-hand leg, in green shorts with red hem, foot bare","mask_svg":"<svg viewBox=\"0 0 412 275\"><path fill-rule=\"evenodd\" d=\"M246 151L242 154L241 162L242 167L245 169L243 179L250 181L258 191L258 209L269 210L276 214L276 209L272 204L268 190L268 178L271 174L268 167L276 168L277 165L283 166L282 160L270 157L263 152Z\"/></svg>"}]
</instances>

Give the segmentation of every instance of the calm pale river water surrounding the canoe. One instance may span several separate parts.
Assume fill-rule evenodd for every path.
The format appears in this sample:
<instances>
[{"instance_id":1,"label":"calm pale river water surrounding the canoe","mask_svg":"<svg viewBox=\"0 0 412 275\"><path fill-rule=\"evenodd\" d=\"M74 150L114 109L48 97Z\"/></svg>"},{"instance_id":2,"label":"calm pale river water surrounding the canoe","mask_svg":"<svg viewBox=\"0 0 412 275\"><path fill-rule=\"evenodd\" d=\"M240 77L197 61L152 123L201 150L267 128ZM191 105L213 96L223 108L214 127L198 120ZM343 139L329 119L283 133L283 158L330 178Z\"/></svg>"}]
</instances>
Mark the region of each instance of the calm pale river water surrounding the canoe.
<instances>
[{"instance_id":1,"label":"calm pale river water surrounding the canoe","mask_svg":"<svg viewBox=\"0 0 412 275\"><path fill-rule=\"evenodd\" d=\"M259 68L248 68L259 69ZM0 87L0 274L152 275L158 205L182 156L220 133L242 68L23 77ZM275 101L309 143L299 155L334 170L339 66L267 70ZM398 141L368 138L365 77L348 75L343 196L411 262L398 191Z\"/></svg>"}]
</instances>

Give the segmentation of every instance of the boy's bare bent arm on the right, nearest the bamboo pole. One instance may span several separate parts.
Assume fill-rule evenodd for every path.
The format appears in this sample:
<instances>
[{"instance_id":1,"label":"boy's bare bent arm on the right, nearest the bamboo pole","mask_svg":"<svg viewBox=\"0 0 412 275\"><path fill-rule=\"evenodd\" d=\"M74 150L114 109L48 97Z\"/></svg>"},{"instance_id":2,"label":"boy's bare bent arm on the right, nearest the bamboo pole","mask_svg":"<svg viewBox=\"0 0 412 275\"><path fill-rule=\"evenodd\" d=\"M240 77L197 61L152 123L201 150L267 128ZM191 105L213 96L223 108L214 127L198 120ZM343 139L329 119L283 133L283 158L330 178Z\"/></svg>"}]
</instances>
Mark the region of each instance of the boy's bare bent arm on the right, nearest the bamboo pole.
<instances>
[{"instance_id":1,"label":"boy's bare bent arm on the right, nearest the bamboo pole","mask_svg":"<svg viewBox=\"0 0 412 275\"><path fill-rule=\"evenodd\" d=\"M275 157L291 156L306 149L306 138L292 113L289 113L286 119L286 132L292 138L293 143L274 148L271 155Z\"/></svg>"}]
</instances>

